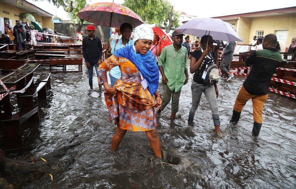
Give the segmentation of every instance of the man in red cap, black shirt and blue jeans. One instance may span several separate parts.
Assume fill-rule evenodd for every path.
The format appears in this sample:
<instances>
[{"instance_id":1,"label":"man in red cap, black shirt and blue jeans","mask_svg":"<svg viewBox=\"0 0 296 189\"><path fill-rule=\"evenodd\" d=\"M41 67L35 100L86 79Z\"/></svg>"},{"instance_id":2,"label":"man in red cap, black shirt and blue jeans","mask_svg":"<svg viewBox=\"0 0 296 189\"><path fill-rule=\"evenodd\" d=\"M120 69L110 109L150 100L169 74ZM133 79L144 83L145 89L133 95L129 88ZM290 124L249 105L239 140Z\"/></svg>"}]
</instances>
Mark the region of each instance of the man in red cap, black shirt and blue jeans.
<instances>
[{"instance_id":1,"label":"man in red cap, black shirt and blue jeans","mask_svg":"<svg viewBox=\"0 0 296 189\"><path fill-rule=\"evenodd\" d=\"M84 37L82 40L82 51L88 69L89 86L90 89L93 89L93 67L95 67L98 76L98 66L102 61L103 48L101 39L95 36L96 28L93 25L88 25L86 30L88 37ZM99 89L102 89L102 85L99 85Z\"/></svg>"}]
</instances>

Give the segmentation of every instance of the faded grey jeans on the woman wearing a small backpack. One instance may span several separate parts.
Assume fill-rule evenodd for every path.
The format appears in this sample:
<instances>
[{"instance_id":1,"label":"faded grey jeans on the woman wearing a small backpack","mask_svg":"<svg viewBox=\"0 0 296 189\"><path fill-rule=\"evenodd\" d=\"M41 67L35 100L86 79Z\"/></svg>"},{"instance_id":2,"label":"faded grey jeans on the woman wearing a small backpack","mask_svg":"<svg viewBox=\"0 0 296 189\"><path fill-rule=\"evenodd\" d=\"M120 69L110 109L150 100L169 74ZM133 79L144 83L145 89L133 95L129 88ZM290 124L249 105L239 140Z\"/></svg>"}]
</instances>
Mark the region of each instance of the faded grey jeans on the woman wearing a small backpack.
<instances>
[{"instance_id":1,"label":"faded grey jeans on the woman wearing a small backpack","mask_svg":"<svg viewBox=\"0 0 296 189\"><path fill-rule=\"evenodd\" d=\"M192 81L191 92L192 92L192 106L189 112L188 123L193 122L195 112L200 103L201 95L202 93L204 93L212 111L214 126L220 125L217 97L216 97L214 85L203 85L203 84L195 83L194 81Z\"/></svg>"}]
</instances>

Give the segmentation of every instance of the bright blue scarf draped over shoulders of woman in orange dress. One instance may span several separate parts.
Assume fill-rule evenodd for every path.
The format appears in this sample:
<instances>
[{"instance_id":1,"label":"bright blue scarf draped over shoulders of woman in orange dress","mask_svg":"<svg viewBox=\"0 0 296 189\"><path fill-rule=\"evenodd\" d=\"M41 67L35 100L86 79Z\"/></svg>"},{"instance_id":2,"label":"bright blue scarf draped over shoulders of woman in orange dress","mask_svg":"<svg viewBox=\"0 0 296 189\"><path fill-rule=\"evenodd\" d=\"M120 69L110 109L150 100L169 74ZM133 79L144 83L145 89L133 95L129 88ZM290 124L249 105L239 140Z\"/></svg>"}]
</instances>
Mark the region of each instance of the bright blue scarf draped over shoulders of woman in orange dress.
<instances>
[{"instance_id":1,"label":"bright blue scarf draped over shoulders of woman in orange dress","mask_svg":"<svg viewBox=\"0 0 296 189\"><path fill-rule=\"evenodd\" d=\"M133 45L130 45L116 50L114 55L127 58L135 64L143 77L147 80L149 92L154 95L158 88L159 73L152 52L149 50L145 55L136 53L133 49Z\"/></svg>"}]
</instances>

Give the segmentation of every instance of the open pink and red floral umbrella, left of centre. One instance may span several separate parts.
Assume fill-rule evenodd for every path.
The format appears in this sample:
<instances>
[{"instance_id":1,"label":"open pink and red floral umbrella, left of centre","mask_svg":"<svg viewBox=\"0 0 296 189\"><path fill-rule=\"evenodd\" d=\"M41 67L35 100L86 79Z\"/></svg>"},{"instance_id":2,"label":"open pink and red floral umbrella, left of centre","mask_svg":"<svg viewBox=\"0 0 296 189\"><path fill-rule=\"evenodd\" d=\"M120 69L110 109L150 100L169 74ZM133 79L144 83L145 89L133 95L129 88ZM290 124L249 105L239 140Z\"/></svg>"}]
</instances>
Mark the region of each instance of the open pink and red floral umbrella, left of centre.
<instances>
[{"instance_id":1,"label":"open pink and red floral umbrella, left of centre","mask_svg":"<svg viewBox=\"0 0 296 189\"><path fill-rule=\"evenodd\" d=\"M95 3L83 8L77 16L100 26L114 28L119 28L125 22L130 23L133 28L144 23L132 10L116 3Z\"/></svg>"}]
</instances>

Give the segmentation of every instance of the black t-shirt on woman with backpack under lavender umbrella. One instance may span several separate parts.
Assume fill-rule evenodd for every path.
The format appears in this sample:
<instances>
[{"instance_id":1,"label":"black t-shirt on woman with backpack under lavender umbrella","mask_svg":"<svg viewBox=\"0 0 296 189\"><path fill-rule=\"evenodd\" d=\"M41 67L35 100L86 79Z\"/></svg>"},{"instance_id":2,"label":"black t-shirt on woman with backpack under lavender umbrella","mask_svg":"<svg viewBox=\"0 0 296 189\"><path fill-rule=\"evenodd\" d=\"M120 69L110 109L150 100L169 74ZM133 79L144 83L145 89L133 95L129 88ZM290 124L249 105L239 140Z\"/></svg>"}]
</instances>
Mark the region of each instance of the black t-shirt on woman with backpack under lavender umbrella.
<instances>
[{"instance_id":1,"label":"black t-shirt on woman with backpack under lavender umbrella","mask_svg":"<svg viewBox=\"0 0 296 189\"><path fill-rule=\"evenodd\" d=\"M202 51L201 50L195 50L192 52L191 56L196 58L196 60L198 61L202 55ZM206 68L206 64L215 64L215 60L216 60L216 54L213 51L210 51L211 54L211 59L209 59L208 57L204 58L204 62L201 62L200 66L197 68L197 70L194 73L193 76L193 81L195 83L200 83L200 84L204 84L203 79L201 78L204 72L204 69ZM199 68L201 67L201 69L199 70Z\"/></svg>"}]
</instances>

